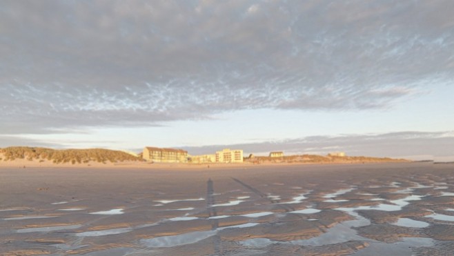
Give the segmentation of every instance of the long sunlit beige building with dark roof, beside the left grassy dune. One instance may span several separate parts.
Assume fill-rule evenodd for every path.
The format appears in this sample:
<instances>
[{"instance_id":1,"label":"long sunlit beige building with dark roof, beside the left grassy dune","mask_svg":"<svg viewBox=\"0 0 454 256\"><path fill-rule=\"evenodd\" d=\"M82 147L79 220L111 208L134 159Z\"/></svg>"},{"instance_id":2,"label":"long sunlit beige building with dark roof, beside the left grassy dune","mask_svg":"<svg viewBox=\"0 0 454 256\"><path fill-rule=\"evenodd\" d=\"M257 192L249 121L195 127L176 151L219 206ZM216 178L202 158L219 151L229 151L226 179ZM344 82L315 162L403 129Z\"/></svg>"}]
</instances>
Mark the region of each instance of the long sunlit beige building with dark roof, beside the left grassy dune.
<instances>
[{"instance_id":1,"label":"long sunlit beige building with dark roof, beside the left grassy dune","mask_svg":"<svg viewBox=\"0 0 454 256\"><path fill-rule=\"evenodd\" d=\"M188 151L174 148L145 147L142 157L146 161L159 163L186 163Z\"/></svg>"}]
</instances>

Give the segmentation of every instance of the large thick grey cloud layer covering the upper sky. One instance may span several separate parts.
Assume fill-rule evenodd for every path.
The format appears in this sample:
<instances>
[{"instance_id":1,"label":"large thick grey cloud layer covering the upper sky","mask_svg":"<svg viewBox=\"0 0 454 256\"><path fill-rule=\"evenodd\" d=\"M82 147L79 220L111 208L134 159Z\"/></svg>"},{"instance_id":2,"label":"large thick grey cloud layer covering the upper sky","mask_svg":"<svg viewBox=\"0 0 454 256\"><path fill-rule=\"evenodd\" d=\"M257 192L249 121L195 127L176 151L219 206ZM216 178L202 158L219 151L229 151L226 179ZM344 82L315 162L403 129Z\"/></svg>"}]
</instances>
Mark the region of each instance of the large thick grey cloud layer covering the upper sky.
<instances>
[{"instance_id":1,"label":"large thick grey cloud layer covering the upper sky","mask_svg":"<svg viewBox=\"0 0 454 256\"><path fill-rule=\"evenodd\" d=\"M9 1L0 133L387 108L452 83L452 1Z\"/></svg>"}]
</instances>

